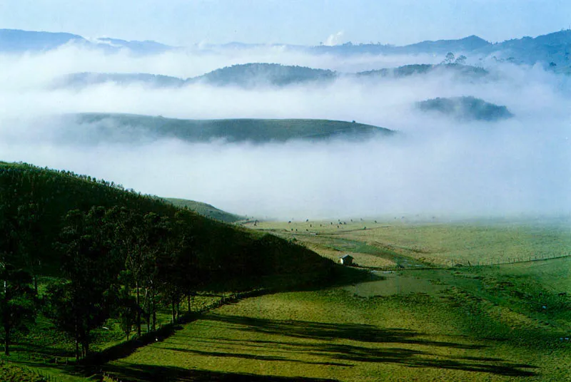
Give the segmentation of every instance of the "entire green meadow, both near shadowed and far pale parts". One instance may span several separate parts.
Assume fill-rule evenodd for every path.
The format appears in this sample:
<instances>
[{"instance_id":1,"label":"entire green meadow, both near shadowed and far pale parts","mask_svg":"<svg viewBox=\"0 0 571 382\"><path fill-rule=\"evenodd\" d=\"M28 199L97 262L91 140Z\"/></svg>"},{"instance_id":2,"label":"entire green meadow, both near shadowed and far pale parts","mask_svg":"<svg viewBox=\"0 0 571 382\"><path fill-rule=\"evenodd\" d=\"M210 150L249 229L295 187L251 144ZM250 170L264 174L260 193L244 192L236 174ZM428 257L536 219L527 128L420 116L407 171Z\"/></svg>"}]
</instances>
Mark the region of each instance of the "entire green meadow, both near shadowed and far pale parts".
<instances>
[{"instance_id":1,"label":"entire green meadow, both near shadowed and far pale parts","mask_svg":"<svg viewBox=\"0 0 571 382\"><path fill-rule=\"evenodd\" d=\"M105 370L121 381L570 378L571 257L524 261L565 255L564 225L377 224L257 222L331 259L406 267L221 306ZM512 257L522 261L448 267Z\"/></svg>"}]
</instances>

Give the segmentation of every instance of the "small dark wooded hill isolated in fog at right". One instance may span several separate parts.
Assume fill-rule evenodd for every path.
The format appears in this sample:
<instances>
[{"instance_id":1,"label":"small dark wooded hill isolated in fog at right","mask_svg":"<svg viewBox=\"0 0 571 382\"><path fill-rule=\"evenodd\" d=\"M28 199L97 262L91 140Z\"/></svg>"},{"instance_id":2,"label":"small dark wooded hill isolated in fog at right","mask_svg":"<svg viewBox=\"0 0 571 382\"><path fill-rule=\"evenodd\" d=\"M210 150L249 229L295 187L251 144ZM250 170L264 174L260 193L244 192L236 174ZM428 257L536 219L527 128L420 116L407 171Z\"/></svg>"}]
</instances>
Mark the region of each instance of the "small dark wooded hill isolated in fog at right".
<instances>
[{"instance_id":1,"label":"small dark wooded hill isolated in fog at right","mask_svg":"<svg viewBox=\"0 0 571 382\"><path fill-rule=\"evenodd\" d=\"M513 117L505 106L474 97L434 98L419 102L418 108L449 115L459 120L495 121Z\"/></svg>"}]
</instances>

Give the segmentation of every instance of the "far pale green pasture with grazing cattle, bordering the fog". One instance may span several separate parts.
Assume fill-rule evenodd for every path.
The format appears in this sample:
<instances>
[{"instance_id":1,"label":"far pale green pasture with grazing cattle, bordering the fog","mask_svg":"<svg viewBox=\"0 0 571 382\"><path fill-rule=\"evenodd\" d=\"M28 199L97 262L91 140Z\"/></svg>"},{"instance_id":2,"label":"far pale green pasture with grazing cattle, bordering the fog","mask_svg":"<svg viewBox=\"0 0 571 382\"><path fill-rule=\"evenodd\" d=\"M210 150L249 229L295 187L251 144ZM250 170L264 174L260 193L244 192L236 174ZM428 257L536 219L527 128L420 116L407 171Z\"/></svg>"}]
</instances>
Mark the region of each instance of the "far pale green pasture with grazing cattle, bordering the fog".
<instances>
[{"instance_id":1,"label":"far pale green pasture with grazing cattle, bordering the fog","mask_svg":"<svg viewBox=\"0 0 571 382\"><path fill-rule=\"evenodd\" d=\"M259 222L253 228L293 237L332 259L350 253L365 267L396 264L452 267L468 262L497 263L571 254L568 221L411 224L327 220Z\"/></svg>"}]
</instances>

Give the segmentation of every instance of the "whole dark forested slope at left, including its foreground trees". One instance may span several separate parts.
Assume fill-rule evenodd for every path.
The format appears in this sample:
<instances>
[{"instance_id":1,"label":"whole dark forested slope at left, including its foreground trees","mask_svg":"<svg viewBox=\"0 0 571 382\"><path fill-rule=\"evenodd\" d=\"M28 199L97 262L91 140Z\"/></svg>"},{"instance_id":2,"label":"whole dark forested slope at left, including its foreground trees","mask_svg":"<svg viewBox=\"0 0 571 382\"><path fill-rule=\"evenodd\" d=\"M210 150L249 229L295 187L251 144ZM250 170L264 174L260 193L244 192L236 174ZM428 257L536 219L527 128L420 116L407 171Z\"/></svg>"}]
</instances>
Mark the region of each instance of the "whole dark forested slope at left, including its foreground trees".
<instances>
[{"instance_id":1,"label":"whole dark forested slope at left, including its foreground trees","mask_svg":"<svg viewBox=\"0 0 571 382\"><path fill-rule=\"evenodd\" d=\"M172 321L196 291L319 284L335 264L305 247L175 207L113 182L0 162L0 320L11 336L42 315L89 353L109 319L128 338ZM50 282L38 287L38 279ZM188 304L190 306L190 304Z\"/></svg>"}]
</instances>

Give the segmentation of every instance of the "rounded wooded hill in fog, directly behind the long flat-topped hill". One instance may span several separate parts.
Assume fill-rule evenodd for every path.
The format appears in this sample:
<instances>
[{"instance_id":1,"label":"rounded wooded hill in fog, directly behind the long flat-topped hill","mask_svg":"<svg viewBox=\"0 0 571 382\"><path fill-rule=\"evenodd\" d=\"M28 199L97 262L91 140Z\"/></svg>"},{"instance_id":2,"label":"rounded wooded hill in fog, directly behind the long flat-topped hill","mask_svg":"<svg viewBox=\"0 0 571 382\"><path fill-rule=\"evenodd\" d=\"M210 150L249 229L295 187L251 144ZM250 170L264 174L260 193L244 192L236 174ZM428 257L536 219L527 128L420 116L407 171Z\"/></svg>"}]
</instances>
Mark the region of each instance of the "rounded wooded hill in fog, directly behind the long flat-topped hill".
<instances>
[{"instance_id":1,"label":"rounded wooded hill in fog, directly behind the long flat-topped hill","mask_svg":"<svg viewBox=\"0 0 571 382\"><path fill-rule=\"evenodd\" d=\"M188 79L188 82L204 82L215 86L285 86L294 83L331 81L333 71L304 66L287 66L278 63L246 63L216 69L210 73Z\"/></svg>"}]
</instances>

